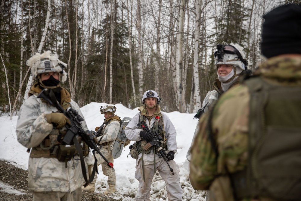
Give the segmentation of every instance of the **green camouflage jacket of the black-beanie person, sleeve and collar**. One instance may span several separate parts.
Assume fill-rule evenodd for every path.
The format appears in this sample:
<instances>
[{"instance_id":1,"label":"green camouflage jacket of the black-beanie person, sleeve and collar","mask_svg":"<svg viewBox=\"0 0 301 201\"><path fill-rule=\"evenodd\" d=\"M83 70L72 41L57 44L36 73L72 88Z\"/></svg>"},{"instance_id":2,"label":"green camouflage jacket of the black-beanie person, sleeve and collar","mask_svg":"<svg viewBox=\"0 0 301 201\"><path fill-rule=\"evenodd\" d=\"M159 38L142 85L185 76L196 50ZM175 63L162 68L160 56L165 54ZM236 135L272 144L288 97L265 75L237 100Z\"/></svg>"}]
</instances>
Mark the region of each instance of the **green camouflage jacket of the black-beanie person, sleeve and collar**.
<instances>
[{"instance_id":1,"label":"green camouflage jacket of the black-beanie person, sleeve and collar","mask_svg":"<svg viewBox=\"0 0 301 201\"><path fill-rule=\"evenodd\" d=\"M294 80L295 85L301 86L301 56L270 58L254 74L279 84ZM219 152L217 159L208 138L207 126L211 111L200 119L200 129L191 152L190 181L194 189L212 190L212 184L219 176L226 175L227 171L234 173L246 168L249 104L250 94L244 84L228 90L217 101L211 122Z\"/></svg>"}]
</instances>

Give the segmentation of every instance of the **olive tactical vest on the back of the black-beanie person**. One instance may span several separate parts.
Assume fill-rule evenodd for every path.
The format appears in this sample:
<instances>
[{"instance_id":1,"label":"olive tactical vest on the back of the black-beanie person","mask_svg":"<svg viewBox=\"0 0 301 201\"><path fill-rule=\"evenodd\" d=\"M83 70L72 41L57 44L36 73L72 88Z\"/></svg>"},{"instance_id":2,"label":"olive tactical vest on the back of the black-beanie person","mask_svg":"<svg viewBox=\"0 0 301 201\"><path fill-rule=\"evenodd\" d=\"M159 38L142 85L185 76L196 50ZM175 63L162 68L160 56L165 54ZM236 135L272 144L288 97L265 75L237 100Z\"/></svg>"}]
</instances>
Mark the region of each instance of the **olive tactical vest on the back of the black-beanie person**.
<instances>
[{"instance_id":1,"label":"olive tactical vest on the back of the black-beanie person","mask_svg":"<svg viewBox=\"0 0 301 201\"><path fill-rule=\"evenodd\" d=\"M248 165L230 174L234 195L300 200L301 86L261 77L245 84L250 91Z\"/></svg>"}]
</instances>

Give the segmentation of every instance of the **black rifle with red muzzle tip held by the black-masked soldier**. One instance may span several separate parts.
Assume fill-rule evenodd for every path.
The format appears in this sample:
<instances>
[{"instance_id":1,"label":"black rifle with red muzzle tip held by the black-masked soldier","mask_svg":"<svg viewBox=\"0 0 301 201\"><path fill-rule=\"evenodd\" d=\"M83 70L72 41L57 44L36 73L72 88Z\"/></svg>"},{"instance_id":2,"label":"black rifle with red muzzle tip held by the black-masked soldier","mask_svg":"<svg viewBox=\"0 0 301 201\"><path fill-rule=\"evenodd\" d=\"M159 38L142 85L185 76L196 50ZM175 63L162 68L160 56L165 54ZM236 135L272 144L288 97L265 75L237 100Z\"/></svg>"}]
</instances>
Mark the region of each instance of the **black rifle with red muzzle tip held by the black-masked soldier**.
<instances>
[{"instance_id":1,"label":"black rifle with red muzzle tip held by the black-masked soldier","mask_svg":"<svg viewBox=\"0 0 301 201\"><path fill-rule=\"evenodd\" d=\"M77 111L73 108L70 108L68 111L64 110L64 108L57 103L55 98L54 92L51 89L44 88L41 93L37 96L37 98L42 98L44 101L48 102L50 105L54 105L61 113L63 113L69 120L70 125L66 124L67 133L65 134L62 143L70 145L73 141L75 146L78 145L76 140L76 135L78 134L82 140L91 148L93 149L93 153L96 151L101 155L101 157L107 163L107 166L113 168L113 163L109 162L104 155L100 152L101 146L96 144L93 138L95 137L89 130L84 130L82 125L80 124L81 121L84 119L77 113ZM76 147L78 148L78 147ZM96 158L95 158L96 160ZM96 162L96 161L95 161ZM85 167L85 166L84 166Z\"/></svg>"}]
</instances>

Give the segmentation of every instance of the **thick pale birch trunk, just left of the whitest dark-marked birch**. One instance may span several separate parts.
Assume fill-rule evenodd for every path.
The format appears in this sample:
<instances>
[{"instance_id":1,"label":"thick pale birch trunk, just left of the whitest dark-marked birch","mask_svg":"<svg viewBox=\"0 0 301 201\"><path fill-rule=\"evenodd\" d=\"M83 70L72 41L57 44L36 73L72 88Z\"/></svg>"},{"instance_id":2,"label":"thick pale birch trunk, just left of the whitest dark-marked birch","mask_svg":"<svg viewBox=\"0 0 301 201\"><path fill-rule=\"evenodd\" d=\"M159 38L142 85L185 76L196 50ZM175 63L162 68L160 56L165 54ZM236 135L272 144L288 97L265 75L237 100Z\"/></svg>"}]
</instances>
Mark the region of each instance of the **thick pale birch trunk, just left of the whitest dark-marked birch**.
<instances>
[{"instance_id":1,"label":"thick pale birch trunk, just left of the whitest dark-marked birch","mask_svg":"<svg viewBox=\"0 0 301 201\"><path fill-rule=\"evenodd\" d=\"M176 64L176 83L177 83L177 96L176 96L176 102L178 110L181 112L183 105L181 102L182 97L182 77L183 77L183 26L184 26L184 3L185 0L181 0L180 4L180 15L178 20L178 57L177 57L177 64Z\"/></svg>"}]
</instances>

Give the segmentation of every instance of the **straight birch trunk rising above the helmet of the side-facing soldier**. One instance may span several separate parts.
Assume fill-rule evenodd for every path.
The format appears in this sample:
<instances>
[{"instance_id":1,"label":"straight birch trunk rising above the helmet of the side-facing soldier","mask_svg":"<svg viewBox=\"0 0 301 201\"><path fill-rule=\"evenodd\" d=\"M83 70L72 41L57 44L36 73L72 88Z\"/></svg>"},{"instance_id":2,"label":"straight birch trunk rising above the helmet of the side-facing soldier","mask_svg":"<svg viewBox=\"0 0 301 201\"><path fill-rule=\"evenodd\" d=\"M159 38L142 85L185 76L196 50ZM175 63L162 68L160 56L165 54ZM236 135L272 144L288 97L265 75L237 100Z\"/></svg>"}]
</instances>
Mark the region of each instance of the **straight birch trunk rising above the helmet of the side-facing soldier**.
<instances>
[{"instance_id":1,"label":"straight birch trunk rising above the helmet of the side-facing soldier","mask_svg":"<svg viewBox=\"0 0 301 201\"><path fill-rule=\"evenodd\" d=\"M114 16L115 16L115 2L111 0L111 46L110 46L110 97L109 103L112 104L112 90L113 90L113 41L114 41Z\"/></svg>"}]
</instances>

